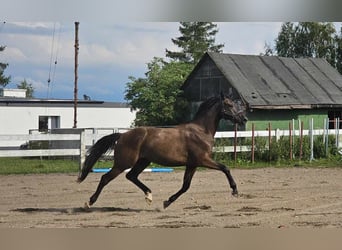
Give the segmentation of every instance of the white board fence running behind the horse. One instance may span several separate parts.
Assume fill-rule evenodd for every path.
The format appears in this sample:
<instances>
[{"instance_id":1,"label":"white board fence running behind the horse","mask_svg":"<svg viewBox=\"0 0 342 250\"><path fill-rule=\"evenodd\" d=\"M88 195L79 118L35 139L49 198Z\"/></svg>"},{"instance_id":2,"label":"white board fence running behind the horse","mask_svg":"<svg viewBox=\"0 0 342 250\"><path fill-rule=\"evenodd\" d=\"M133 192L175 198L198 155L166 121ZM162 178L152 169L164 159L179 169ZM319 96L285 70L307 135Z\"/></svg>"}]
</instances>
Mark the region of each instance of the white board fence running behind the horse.
<instances>
[{"instance_id":1,"label":"white board fence running behind the horse","mask_svg":"<svg viewBox=\"0 0 342 250\"><path fill-rule=\"evenodd\" d=\"M101 137L113 133L124 132L128 129L68 129L65 133L59 134L28 134L28 135L0 135L0 157L43 157L43 156L78 156L80 166L82 165L86 150L93 145ZM60 130L63 132L63 130ZM68 132L68 131L72 131ZM68 132L68 133L67 133ZM342 130L341 129L318 129L318 130L256 130L256 131L226 131L217 132L215 138L256 138L256 137L276 137L281 136L300 136L309 135L310 141L313 142L314 136L317 135L334 135L336 138L336 146L342 146ZM23 142L42 142L47 141L49 145L46 149L20 149ZM56 142L64 141L60 145L68 145L66 148L51 148L50 146ZM73 143L70 143L73 142ZM16 145L16 147L13 147ZM72 147L72 148L70 148ZM311 145L313 147L313 145ZM252 151L252 145L234 145L215 147L215 152L247 152ZM339 151L342 153L342 150Z\"/></svg>"}]
</instances>

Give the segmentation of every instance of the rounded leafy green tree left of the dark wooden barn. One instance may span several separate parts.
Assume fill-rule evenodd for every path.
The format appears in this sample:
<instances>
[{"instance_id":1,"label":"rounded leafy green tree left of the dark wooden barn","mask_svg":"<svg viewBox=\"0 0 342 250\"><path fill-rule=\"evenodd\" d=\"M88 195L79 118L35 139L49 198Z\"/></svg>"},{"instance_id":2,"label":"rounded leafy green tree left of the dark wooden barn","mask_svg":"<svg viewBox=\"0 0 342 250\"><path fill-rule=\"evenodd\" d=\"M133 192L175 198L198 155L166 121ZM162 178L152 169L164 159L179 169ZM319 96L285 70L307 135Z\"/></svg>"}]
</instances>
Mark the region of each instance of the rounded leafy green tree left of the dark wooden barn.
<instances>
[{"instance_id":1,"label":"rounded leafy green tree left of the dark wooden barn","mask_svg":"<svg viewBox=\"0 0 342 250\"><path fill-rule=\"evenodd\" d=\"M146 78L129 77L125 99L137 110L135 126L173 125L180 117L177 110L184 109L179 97L191 66L187 63L169 62L153 58L147 65ZM175 105L177 103L177 105Z\"/></svg>"}]
</instances>

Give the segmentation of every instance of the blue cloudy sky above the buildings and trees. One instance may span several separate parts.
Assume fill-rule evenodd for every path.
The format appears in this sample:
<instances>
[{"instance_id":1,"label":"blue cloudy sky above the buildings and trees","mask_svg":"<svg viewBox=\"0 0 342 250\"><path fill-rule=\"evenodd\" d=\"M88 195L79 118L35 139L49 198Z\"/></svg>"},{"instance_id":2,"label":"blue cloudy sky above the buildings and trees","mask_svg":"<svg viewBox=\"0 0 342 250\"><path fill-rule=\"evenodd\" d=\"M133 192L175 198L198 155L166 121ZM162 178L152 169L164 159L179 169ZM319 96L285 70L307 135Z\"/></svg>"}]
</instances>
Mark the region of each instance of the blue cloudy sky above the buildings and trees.
<instances>
[{"instance_id":1,"label":"blue cloudy sky above the buildings and trees","mask_svg":"<svg viewBox=\"0 0 342 250\"><path fill-rule=\"evenodd\" d=\"M281 22L219 22L217 43L225 53L258 55L274 43ZM340 26L338 26L340 27ZM124 101L129 76L143 77L146 63L177 50L178 22L80 22L79 98ZM0 61L9 64L8 87L26 79L37 98L73 98L75 25L0 20ZM50 79L50 83L48 83Z\"/></svg>"}]
</instances>

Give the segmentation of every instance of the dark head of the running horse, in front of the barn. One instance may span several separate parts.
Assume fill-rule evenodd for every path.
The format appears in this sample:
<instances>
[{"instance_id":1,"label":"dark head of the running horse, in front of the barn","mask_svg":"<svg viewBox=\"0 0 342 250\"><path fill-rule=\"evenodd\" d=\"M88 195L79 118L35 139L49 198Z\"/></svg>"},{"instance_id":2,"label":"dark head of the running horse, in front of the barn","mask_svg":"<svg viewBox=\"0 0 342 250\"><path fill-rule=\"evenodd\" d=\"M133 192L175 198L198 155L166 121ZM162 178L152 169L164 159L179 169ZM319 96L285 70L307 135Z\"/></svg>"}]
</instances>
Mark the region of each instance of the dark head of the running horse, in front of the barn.
<instances>
[{"instance_id":1,"label":"dark head of the running horse, in front of the barn","mask_svg":"<svg viewBox=\"0 0 342 250\"><path fill-rule=\"evenodd\" d=\"M221 115L223 119L231 120L239 125L244 125L247 122L246 109L239 103L232 101L227 96L221 94L222 110Z\"/></svg>"}]
</instances>

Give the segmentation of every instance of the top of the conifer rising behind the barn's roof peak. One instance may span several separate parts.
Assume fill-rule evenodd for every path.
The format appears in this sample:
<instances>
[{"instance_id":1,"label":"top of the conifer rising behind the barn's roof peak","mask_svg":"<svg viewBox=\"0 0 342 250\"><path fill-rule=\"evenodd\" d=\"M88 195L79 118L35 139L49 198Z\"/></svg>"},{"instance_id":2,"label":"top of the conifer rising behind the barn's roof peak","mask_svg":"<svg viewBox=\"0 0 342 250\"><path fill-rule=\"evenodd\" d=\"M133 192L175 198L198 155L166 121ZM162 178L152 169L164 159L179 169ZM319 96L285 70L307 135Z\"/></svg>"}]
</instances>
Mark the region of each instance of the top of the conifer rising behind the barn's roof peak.
<instances>
[{"instance_id":1,"label":"top of the conifer rising behind the barn's roof peak","mask_svg":"<svg viewBox=\"0 0 342 250\"><path fill-rule=\"evenodd\" d=\"M196 64L204 52L222 52L223 44L215 44L217 25L211 22L180 22L180 37L171 39L181 51L166 49L166 57Z\"/></svg>"}]
</instances>

